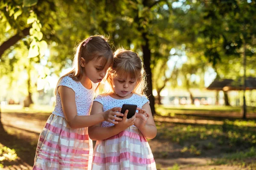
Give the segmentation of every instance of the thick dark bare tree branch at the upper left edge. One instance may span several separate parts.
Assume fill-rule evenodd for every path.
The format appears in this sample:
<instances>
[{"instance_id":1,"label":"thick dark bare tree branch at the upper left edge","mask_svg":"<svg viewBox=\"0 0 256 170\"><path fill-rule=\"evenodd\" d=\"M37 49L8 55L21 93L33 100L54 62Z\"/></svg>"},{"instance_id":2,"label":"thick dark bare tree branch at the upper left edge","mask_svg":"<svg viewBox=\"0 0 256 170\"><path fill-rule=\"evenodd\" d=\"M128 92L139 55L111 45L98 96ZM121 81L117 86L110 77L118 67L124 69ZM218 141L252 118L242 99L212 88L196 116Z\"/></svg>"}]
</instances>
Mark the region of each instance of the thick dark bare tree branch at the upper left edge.
<instances>
[{"instance_id":1,"label":"thick dark bare tree branch at the upper left edge","mask_svg":"<svg viewBox=\"0 0 256 170\"><path fill-rule=\"evenodd\" d=\"M16 42L18 42L21 38L29 35L29 28L25 28L21 31L21 33L17 33L16 35L12 36L9 40L3 42L3 44L0 46L0 59L4 53L4 51L6 51L8 48L10 48L12 45L15 45Z\"/></svg>"}]
</instances>

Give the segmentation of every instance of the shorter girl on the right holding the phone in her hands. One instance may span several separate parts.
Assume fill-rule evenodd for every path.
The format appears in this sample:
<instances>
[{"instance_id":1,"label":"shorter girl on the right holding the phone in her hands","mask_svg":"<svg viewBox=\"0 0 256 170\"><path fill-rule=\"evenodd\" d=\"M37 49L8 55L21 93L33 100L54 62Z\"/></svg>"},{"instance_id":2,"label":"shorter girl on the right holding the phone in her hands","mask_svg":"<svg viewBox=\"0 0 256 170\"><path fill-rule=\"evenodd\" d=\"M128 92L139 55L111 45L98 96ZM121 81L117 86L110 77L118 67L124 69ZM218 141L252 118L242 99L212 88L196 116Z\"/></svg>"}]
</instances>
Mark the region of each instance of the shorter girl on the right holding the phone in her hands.
<instances>
[{"instance_id":1,"label":"shorter girl on the right holding the phone in her hands","mask_svg":"<svg viewBox=\"0 0 256 170\"><path fill-rule=\"evenodd\" d=\"M91 139L97 140L92 170L155 170L156 164L146 138L153 139L157 128L148 99L144 96L142 62L133 51L118 49L107 81L108 94L99 95L91 113L97 115L123 104L137 105L139 113L127 119L128 111L118 124L102 122L89 127ZM142 108L142 109L140 109Z\"/></svg>"}]
</instances>

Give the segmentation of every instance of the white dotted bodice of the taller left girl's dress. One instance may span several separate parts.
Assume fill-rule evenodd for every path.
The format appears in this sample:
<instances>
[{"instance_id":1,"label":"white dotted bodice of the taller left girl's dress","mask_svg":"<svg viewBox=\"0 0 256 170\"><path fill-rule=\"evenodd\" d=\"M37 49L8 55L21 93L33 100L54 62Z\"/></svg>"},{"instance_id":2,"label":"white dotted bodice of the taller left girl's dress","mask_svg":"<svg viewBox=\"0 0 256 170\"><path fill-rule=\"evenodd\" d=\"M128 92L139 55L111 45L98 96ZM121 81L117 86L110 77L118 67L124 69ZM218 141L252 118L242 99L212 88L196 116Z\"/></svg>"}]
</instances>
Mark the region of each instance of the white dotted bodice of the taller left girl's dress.
<instances>
[{"instance_id":1,"label":"white dotted bodice of the taller left girl's dress","mask_svg":"<svg viewBox=\"0 0 256 170\"><path fill-rule=\"evenodd\" d=\"M87 89L81 82L77 82L68 76L61 79L57 86L56 105L52 114L65 118L61 105L61 97L58 93L58 87L61 85L71 88L75 92L77 115L89 115L97 84L92 82L92 88Z\"/></svg>"}]
</instances>

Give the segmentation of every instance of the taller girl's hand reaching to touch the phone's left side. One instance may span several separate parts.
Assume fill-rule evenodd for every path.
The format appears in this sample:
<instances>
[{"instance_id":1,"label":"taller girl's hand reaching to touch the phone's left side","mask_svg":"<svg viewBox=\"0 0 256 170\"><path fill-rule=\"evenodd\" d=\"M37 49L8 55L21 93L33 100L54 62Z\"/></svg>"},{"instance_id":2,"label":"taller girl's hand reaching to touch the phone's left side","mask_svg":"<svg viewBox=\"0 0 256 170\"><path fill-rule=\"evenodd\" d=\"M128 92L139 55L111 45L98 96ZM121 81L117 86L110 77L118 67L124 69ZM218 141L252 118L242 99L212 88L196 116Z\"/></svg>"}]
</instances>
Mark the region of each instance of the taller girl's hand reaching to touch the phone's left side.
<instances>
[{"instance_id":1,"label":"taller girl's hand reaching to touch the phone's left side","mask_svg":"<svg viewBox=\"0 0 256 170\"><path fill-rule=\"evenodd\" d=\"M107 122L111 122L113 124L118 124L117 121L121 121L122 118L119 118L117 116L124 116L124 114L120 113L120 111L121 111L121 108L118 108L118 107L112 108L108 111L105 111L103 113L104 120L107 121ZM114 116L114 115L116 115L116 116ZM127 116L127 114L126 114L126 116Z\"/></svg>"}]
</instances>

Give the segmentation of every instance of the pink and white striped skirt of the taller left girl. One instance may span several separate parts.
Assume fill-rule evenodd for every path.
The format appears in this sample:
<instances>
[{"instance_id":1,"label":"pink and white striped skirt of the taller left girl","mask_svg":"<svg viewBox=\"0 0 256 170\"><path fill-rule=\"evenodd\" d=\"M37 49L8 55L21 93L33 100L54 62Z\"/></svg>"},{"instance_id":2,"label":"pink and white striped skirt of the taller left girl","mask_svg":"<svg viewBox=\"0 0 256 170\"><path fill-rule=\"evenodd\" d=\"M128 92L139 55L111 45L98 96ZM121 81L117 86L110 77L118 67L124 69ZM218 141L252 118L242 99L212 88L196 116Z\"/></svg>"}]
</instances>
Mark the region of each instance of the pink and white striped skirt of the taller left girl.
<instances>
[{"instance_id":1,"label":"pink and white striped skirt of the taller left girl","mask_svg":"<svg viewBox=\"0 0 256 170\"><path fill-rule=\"evenodd\" d=\"M66 119L51 114L39 136L33 170L90 170L92 158L87 127L71 129Z\"/></svg>"}]
</instances>

